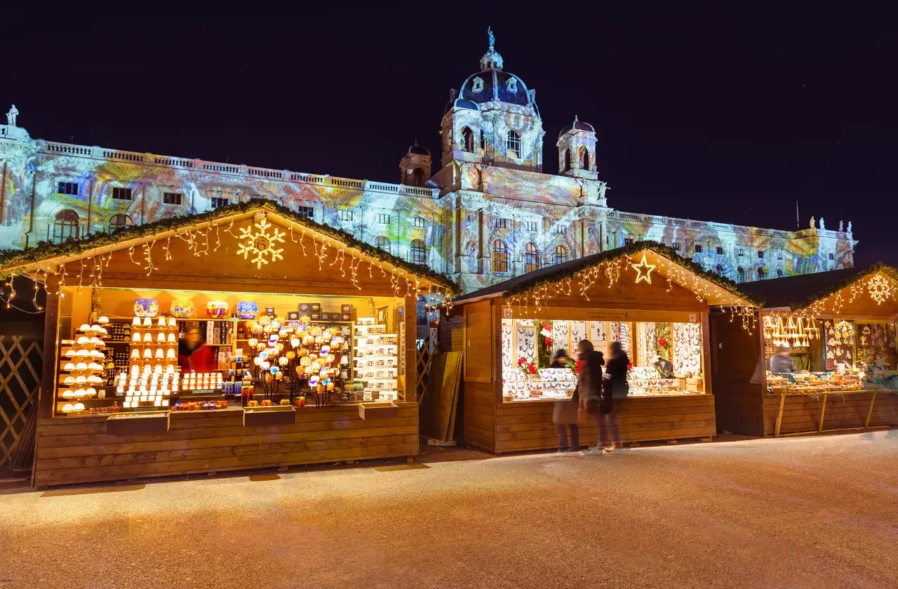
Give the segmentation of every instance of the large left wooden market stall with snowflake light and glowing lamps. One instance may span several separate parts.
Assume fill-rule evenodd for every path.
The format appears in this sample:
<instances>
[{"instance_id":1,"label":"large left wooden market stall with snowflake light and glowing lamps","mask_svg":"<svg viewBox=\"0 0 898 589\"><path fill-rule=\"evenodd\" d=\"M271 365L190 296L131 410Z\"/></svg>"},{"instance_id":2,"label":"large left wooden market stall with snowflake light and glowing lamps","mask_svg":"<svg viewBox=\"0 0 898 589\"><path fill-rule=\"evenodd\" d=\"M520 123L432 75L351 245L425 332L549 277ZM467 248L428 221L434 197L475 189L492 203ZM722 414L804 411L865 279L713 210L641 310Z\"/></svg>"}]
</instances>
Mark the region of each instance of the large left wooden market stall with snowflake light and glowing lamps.
<instances>
[{"instance_id":1,"label":"large left wooden market stall with snowflake light and glowing lamps","mask_svg":"<svg viewBox=\"0 0 898 589\"><path fill-rule=\"evenodd\" d=\"M254 200L0 272L46 290L36 486L418 453L426 267Z\"/></svg>"}]
</instances>

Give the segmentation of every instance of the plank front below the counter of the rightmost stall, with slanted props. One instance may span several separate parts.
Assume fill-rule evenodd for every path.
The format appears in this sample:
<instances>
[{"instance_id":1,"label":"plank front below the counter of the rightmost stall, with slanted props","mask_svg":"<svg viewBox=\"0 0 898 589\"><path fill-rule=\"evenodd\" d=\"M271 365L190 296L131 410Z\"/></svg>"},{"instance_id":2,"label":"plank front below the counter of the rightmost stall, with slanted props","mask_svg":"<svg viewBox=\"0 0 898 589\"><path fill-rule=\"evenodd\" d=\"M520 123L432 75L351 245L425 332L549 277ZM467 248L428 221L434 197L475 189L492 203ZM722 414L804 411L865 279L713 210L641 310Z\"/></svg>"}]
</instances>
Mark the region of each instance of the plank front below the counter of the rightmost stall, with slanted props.
<instances>
[{"instance_id":1,"label":"plank front below the counter of the rightmost stall, with slanted props","mask_svg":"<svg viewBox=\"0 0 898 589\"><path fill-rule=\"evenodd\" d=\"M823 429L863 427L870 408L873 393L858 393L837 397L831 395L826 402ZM898 425L898 396L894 393L878 393L873 405L870 425ZM764 395L764 433L773 435L777 428L779 395ZM844 400L843 400L844 399ZM783 421L779 433L814 432L820 424L823 397L786 397Z\"/></svg>"}]
</instances>

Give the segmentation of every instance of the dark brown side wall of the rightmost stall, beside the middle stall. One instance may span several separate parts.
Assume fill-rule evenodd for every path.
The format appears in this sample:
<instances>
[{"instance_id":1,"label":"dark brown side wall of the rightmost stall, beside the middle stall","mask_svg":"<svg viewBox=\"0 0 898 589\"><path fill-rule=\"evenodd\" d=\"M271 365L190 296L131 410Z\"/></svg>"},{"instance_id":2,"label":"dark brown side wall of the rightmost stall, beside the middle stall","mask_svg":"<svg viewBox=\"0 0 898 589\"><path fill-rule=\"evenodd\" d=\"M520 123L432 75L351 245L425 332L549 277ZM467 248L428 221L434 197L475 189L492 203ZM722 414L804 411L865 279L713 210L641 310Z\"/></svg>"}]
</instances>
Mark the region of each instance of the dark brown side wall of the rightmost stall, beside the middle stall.
<instances>
[{"instance_id":1,"label":"dark brown side wall of the rightmost stall, beside the middle stall","mask_svg":"<svg viewBox=\"0 0 898 589\"><path fill-rule=\"evenodd\" d=\"M764 435L760 326L751 333L729 314L711 316L711 382L718 431ZM753 382L754 381L754 382Z\"/></svg>"}]
</instances>

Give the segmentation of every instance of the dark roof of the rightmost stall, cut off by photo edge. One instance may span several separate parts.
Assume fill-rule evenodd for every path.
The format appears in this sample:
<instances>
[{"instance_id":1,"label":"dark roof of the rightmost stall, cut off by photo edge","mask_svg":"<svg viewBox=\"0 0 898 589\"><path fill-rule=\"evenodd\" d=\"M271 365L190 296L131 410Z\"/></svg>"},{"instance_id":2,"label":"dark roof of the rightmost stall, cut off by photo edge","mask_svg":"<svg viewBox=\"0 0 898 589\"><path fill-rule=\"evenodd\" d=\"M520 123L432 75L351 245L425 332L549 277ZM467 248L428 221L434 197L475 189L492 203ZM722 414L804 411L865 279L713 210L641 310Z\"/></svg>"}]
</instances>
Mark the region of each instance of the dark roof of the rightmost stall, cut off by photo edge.
<instances>
[{"instance_id":1,"label":"dark roof of the rightmost stall, cut off by photo edge","mask_svg":"<svg viewBox=\"0 0 898 589\"><path fill-rule=\"evenodd\" d=\"M898 281L898 269L884 263L862 268L844 268L830 272L814 272L773 278L766 281L746 282L739 285L745 292L764 299L764 308L805 308L814 301L825 299L850 284L883 272Z\"/></svg>"}]
</instances>

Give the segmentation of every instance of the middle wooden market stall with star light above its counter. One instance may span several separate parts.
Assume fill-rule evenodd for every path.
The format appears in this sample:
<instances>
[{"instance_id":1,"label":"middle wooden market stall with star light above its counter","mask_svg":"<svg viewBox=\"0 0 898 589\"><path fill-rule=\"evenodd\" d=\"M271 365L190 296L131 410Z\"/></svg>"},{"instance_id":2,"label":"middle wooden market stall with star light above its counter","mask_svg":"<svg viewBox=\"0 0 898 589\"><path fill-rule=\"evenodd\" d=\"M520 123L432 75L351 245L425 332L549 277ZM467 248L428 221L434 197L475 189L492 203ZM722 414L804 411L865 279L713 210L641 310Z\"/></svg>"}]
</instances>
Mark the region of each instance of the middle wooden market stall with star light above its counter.
<instances>
[{"instance_id":1,"label":"middle wooden market stall with star light above its counter","mask_svg":"<svg viewBox=\"0 0 898 589\"><path fill-rule=\"evenodd\" d=\"M629 354L629 397L615 399L621 442L709 438L716 433L707 378L708 317L753 328L756 304L735 285L703 271L674 249L639 242L500 282L454 301L452 337L464 353L463 438L490 452L558 444L554 402L571 397L577 374L550 368L551 355L589 340L610 358L612 342ZM452 319L449 322L452 323ZM594 421L580 422L594 444Z\"/></svg>"}]
</instances>

